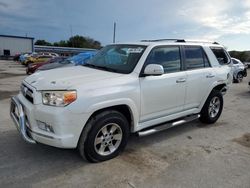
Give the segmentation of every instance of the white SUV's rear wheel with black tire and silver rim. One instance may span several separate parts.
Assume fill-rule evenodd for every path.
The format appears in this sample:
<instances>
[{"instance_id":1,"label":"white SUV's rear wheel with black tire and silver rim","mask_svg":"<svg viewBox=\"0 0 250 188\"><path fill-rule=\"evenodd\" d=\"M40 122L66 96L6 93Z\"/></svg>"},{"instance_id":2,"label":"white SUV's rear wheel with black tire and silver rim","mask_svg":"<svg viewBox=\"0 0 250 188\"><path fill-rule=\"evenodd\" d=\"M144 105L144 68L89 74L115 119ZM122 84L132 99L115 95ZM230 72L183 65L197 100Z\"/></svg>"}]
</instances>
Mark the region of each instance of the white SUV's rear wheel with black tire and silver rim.
<instances>
[{"instance_id":1,"label":"white SUV's rear wheel with black tire and silver rim","mask_svg":"<svg viewBox=\"0 0 250 188\"><path fill-rule=\"evenodd\" d=\"M220 91L213 90L208 96L200 113L200 121L207 124L215 123L223 109L223 96Z\"/></svg>"}]
</instances>

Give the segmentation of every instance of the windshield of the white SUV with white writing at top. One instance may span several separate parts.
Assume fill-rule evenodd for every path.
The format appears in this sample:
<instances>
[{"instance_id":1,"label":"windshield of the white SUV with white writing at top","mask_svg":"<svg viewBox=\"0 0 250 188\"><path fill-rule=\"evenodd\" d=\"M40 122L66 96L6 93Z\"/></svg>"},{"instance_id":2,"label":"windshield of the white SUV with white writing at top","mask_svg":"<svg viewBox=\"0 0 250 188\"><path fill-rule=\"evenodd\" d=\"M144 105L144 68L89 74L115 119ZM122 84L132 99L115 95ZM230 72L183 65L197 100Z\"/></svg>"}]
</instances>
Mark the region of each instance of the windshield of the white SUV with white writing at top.
<instances>
[{"instance_id":1,"label":"windshield of the white SUV with white writing at top","mask_svg":"<svg viewBox=\"0 0 250 188\"><path fill-rule=\"evenodd\" d=\"M145 49L146 46L142 45L109 45L101 49L84 66L129 74L134 70Z\"/></svg>"}]
</instances>

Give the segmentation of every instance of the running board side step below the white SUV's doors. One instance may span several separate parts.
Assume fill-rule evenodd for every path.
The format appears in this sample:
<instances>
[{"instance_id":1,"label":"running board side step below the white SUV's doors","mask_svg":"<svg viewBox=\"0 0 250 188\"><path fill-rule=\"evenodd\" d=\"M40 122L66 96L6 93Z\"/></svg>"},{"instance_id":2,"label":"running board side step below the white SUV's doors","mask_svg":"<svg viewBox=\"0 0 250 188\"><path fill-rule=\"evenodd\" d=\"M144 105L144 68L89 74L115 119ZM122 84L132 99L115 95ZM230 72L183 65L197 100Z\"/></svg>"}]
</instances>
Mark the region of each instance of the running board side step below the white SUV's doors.
<instances>
[{"instance_id":1,"label":"running board side step below the white SUV's doors","mask_svg":"<svg viewBox=\"0 0 250 188\"><path fill-rule=\"evenodd\" d=\"M151 135L151 134L154 134L154 133L169 129L171 127L175 127L177 125L181 125L181 124L184 124L184 123L188 123L190 121L194 121L194 120L198 119L199 117L200 117L200 114L187 116L187 117L185 117L183 119L178 119L176 121L161 124L161 125L158 125L158 126L156 126L154 128L144 129L142 131L139 131L138 135L139 136L148 136L148 135Z\"/></svg>"}]
</instances>

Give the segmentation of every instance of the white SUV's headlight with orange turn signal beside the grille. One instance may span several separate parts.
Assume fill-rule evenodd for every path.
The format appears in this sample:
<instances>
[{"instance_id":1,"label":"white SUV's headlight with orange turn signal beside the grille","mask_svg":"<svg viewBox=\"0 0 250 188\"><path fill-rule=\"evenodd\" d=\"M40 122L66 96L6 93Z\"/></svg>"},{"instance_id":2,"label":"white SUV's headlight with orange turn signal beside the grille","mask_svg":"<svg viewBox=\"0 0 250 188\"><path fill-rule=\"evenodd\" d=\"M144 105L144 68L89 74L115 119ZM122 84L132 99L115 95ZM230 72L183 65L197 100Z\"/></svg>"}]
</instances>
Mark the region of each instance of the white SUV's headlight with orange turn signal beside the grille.
<instances>
[{"instance_id":1,"label":"white SUV's headlight with orange turn signal beside the grille","mask_svg":"<svg viewBox=\"0 0 250 188\"><path fill-rule=\"evenodd\" d=\"M42 91L43 104L66 106L76 100L76 91Z\"/></svg>"}]
</instances>

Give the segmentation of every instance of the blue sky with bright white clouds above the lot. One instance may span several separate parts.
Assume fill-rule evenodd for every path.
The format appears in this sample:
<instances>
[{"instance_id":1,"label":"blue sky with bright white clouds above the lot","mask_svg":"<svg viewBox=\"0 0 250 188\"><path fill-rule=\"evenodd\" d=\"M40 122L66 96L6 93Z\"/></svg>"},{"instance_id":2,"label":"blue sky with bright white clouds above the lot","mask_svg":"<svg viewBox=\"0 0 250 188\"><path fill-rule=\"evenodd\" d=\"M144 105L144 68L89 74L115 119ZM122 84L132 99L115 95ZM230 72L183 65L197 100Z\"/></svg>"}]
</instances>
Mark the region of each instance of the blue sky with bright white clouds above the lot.
<instances>
[{"instance_id":1,"label":"blue sky with bright white clouds above the lot","mask_svg":"<svg viewBox=\"0 0 250 188\"><path fill-rule=\"evenodd\" d=\"M114 22L116 42L200 39L250 50L250 0L0 0L0 35L106 45Z\"/></svg>"}]
</instances>

